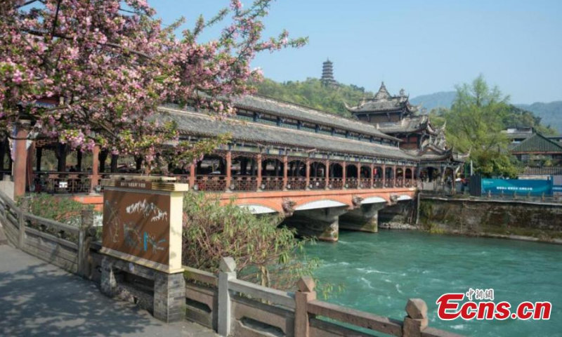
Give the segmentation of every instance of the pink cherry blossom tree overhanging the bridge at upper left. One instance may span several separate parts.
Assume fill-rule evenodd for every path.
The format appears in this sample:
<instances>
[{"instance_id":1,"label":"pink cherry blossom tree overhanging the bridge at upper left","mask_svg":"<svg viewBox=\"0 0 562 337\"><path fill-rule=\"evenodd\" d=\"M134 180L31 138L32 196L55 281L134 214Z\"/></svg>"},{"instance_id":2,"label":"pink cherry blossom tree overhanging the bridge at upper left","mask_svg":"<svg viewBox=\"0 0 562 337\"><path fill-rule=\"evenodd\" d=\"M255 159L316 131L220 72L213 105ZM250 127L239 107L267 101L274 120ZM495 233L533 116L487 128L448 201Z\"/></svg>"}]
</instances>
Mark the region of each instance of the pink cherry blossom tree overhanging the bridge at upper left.
<instances>
[{"instance_id":1,"label":"pink cherry blossom tree overhanging the bridge at upper left","mask_svg":"<svg viewBox=\"0 0 562 337\"><path fill-rule=\"evenodd\" d=\"M31 119L32 133L73 148L94 145L154 161L174 143L183 162L213 147L178 142L174 124L159 124L162 103L195 104L218 117L232 113L230 95L261 78L250 62L261 51L299 47L286 31L263 39L272 0L243 8L238 0L214 18L162 24L145 0L3 0L0 3L0 127L11 133ZM207 27L220 36L200 42ZM39 104L51 100L55 104ZM219 141L223 141L219 140Z\"/></svg>"}]
</instances>

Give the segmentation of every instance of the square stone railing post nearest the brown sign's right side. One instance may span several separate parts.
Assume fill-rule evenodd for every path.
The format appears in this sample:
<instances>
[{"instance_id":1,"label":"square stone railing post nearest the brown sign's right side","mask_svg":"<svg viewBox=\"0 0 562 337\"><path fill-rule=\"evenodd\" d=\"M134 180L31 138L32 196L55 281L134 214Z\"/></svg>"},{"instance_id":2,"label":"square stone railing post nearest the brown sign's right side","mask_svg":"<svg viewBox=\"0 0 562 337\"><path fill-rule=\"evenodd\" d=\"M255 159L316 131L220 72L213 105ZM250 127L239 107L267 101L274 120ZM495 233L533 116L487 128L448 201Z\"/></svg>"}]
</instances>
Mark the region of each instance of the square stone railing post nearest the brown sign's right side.
<instances>
[{"instance_id":1,"label":"square stone railing post nearest the brown sign's right side","mask_svg":"<svg viewBox=\"0 0 562 337\"><path fill-rule=\"evenodd\" d=\"M236 278L235 260L228 256L222 258L221 271L218 272L218 334L221 336L230 335L230 291L228 290L228 282Z\"/></svg>"}]
</instances>

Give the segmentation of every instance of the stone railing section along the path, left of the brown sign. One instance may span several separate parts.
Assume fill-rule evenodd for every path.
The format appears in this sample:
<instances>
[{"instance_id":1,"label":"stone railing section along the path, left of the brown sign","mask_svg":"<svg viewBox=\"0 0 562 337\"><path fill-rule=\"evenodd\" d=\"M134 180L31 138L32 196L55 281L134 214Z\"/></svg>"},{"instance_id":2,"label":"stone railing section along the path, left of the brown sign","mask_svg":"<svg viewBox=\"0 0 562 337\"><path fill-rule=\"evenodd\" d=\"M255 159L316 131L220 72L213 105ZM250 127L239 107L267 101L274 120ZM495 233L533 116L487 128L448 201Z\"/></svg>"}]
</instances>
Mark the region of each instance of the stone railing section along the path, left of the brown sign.
<instances>
[{"instance_id":1,"label":"stone railing section along the path, left of the brown sign","mask_svg":"<svg viewBox=\"0 0 562 337\"><path fill-rule=\"evenodd\" d=\"M0 192L0 222L13 246L68 272L89 274L89 249L95 234L93 211L82 211L81 225L76 227L34 216L28 199L21 199L18 206Z\"/></svg>"}]
</instances>

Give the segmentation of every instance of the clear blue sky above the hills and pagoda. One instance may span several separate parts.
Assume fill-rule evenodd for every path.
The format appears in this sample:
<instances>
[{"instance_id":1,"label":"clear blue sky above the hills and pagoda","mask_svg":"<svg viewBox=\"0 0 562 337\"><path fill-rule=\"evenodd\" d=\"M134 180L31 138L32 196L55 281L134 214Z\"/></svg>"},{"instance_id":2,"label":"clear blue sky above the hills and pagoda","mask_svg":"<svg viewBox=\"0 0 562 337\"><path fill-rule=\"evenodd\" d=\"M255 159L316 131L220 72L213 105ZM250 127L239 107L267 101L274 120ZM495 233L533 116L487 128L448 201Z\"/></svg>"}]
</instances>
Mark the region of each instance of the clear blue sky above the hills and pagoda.
<instances>
[{"instance_id":1,"label":"clear blue sky above the hills and pagoda","mask_svg":"<svg viewBox=\"0 0 562 337\"><path fill-rule=\"evenodd\" d=\"M251 1L242 0L249 6ZM164 23L179 16L192 25L211 18L228 0L152 0ZM263 53L254 60L276 81L320 77L334 62L334 77L376 91L412 97L454 90L483 74L512 103L562 100L560 0L277 0L266 34L283 28L308 37L307 46ZM218 36L209 29L202 40Z\"/></svg>"}]
</instances>

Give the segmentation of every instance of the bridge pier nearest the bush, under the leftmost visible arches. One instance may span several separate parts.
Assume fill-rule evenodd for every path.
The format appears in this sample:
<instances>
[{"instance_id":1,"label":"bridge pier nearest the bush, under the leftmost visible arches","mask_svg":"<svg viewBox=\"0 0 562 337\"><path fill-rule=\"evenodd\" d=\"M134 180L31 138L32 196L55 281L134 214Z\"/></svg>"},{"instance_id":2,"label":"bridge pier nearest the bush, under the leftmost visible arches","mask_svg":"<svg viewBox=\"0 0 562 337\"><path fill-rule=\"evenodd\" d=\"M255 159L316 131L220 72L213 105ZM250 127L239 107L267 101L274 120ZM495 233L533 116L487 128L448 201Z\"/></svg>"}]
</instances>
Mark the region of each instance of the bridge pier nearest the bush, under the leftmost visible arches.
<instances>
[{"instance_id":1,"label":"bridge pier nearest the bush, under the leftmost visible arches","mask_svg":"<svg viewBox=\"0 0 562 337\"><path fill-rule=\"evenodd\" d=\"M296 228L301 237L316 237L320 241L337 242L339 216L346 212L347 206L295 211L284 223L287 227Z\"/></svg>"}]
</instances>

